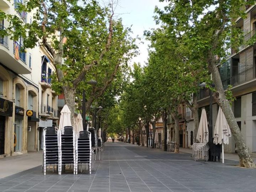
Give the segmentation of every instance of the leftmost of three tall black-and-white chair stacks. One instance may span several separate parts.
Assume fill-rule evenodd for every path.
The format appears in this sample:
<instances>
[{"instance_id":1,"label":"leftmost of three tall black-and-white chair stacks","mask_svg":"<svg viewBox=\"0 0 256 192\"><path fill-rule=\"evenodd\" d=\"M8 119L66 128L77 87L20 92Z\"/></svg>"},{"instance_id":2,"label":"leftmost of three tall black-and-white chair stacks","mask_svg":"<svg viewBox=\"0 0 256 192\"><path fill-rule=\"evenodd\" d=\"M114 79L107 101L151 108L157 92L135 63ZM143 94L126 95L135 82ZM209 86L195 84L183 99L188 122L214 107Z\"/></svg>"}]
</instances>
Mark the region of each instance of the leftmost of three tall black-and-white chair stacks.
<instances>
[{"instance_id":1,"label":"leftmost of three tall black-and-white chair stacks","mask_svg":"<svg viewBox=\"0 0 256 192\"><path fill-rule=\"evenodd\" d=\"M58 166L58 172L61 174L61 154L59 148L58 129L56 127L46 127L43 129L43 171L46 175L47 166L52 166L53 172L55 165Z\"/></svg>"}]
</instances>

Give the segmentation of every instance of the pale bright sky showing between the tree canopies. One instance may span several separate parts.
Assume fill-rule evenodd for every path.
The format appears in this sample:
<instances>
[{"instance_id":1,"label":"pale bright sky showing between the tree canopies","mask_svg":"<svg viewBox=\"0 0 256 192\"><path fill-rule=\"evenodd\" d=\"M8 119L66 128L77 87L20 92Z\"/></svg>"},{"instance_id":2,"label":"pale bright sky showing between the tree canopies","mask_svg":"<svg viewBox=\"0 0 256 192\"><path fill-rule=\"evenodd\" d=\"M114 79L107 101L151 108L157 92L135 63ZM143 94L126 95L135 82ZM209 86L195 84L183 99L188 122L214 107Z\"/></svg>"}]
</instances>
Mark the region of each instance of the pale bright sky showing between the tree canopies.
<instances>
[{"instance_id":1,"label":"pale bright sky showing between the tree canopies","mask_svg":"<svg viewBox=\"0 0 256 192\"><path fill-rule=\"evenodd\" d=\"M134 62L145 65L148 60L147 49L150 42L145 40L143 32L157 27L153 18L156 5L163 9L167 2L159 2L159 0L118 0L115 15L122 18L124 26L132 26L132 36L134 38L138 36L144 42L143 44L140 43L141 41L137 41L140 54L130 61L130 66Z\"/></svg>"}]
</instances>

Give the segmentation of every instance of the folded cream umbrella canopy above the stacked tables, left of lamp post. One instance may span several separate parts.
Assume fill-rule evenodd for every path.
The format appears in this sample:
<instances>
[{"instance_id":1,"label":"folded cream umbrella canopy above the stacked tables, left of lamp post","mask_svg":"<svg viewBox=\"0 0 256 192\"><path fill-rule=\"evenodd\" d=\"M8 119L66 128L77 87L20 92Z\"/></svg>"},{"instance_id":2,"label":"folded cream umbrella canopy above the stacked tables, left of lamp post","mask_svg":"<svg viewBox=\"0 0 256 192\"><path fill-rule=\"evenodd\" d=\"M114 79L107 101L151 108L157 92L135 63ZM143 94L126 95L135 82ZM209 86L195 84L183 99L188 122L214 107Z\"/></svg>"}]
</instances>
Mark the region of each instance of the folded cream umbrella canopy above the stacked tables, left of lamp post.
<instances>
[{"instance_id":1,"label":"folded cream umbrella canopy above the stacked tables, left of lamp post","mask_svg":"<svg viewBox=\"0 0 256 192\"><path fill-rule=\"evenodd\" d=\"M209 130L207 123L206 110L203 108L201 119L199 122L198 132L197 132L197 140L200 143L208 143L209 140Z\"/></svg>"}]
</instances>

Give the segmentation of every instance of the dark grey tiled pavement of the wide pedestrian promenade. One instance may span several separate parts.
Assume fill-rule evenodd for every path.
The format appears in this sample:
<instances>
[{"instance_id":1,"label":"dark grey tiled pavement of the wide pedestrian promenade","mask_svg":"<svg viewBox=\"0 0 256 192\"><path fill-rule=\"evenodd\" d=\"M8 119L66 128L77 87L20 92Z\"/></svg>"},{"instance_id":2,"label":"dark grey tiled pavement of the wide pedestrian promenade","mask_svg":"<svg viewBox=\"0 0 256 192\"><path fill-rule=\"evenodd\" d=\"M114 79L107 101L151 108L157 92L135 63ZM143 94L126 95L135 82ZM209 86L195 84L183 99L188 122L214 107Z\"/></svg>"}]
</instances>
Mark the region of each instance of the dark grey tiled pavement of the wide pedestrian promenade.
<instances>
[{"instance_id":1,"label":"dark grey tiled pavement of the wide pedestrian promenade","mask_svg":"<svg viewBox=\"0 0 256 192\"><path fill-rule=\"evenodd\" d=\"M256 192L255 169L194 162L190 155L106 143L92 175L43 176L39 166L0 179L0 192Z\"/></svg>"}]
</instances>

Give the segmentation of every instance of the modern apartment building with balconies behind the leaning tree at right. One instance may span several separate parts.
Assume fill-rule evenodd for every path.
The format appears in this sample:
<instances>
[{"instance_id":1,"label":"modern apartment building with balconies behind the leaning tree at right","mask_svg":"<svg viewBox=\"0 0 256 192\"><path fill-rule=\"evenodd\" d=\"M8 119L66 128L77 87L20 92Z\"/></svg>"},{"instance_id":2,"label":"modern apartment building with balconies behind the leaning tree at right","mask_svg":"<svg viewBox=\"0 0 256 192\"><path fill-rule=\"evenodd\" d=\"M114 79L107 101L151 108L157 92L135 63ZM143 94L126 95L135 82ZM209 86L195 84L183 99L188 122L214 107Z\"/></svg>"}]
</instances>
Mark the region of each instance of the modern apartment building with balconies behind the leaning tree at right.
<instances>
[{"instance_id":1,"label":"modern apartment building with balconies behind the leaning tree at right","mask_svg":"<svg viewBox=\"0 0 256 192\"><path fill-rule=\"evenodd\" d=\"M238 48L238 52L228 49L229 57L220 66L220 76L224 89L232 85L231 91L236 100L232 103L232 109L236 122L241 130L243 138L249 148L250 153L256 151L256 44L247 46L246 41L255 35L256 29L256 6L246 7L246 18L238 18L236 27L241 28L244 33L245 43ZM209 119L209 90L203 89L198 94L199 117L201 108L205 107ZM218 105L213 100L213 132L218 114ZM187 109L187 132L188 141L192 141L189 132L194 130L191 111ZM189 142L188 142L189 143ZM192 142L191 142L192 144ZM188 145L190 147L190 145ZM225 151L235 153L235 142L231 137L229 145L225 146Z\"/></svg>"}]
</instances>

